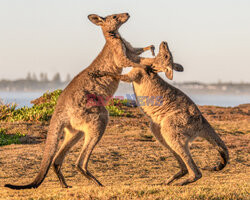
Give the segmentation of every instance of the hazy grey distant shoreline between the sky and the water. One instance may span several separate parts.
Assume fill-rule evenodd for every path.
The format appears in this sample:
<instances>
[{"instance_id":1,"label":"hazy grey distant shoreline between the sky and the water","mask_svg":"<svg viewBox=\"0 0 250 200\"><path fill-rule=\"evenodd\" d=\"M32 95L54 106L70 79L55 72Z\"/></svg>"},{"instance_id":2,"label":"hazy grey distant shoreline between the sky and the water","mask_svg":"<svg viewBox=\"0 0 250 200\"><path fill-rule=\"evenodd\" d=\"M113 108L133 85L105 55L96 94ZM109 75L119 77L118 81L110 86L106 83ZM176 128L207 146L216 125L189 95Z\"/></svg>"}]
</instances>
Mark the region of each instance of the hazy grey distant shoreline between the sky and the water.
<instances>
[{"instance_id":1,"label":"hazy grey distant shoreline between the sky and the water","mask_svg":"<svg viewBox=\"0 0 250 200\"><path fill-rule=\"evenodd\" d=\"M1 92L45 92L53 91L58 88L63 89L69 82L37 81L20 79L16 81L0 81ZM186 93L192 94L234 94L250 95L250 83L200 83L200 82L183 82L171 83L175 87ZM121 82L119 90L131 92L131 85Z\"/></svg>"}]
</instances>

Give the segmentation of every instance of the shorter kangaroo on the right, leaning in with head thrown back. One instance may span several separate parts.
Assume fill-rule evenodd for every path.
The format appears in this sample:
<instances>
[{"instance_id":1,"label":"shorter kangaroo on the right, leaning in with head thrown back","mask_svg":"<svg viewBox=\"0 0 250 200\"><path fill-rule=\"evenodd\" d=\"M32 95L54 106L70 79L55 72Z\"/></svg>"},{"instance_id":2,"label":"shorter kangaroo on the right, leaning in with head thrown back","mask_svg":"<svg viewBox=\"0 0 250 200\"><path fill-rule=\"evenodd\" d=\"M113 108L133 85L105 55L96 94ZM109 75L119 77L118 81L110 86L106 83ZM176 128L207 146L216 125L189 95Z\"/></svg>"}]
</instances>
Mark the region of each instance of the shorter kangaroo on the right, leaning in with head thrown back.
<instances>
[{"instance_id":1,"label":"shorter kangaroo on the right, leaning in with head thrown back","mask_svg":"<svg viewBox=\"0 0 250 200\"><path fill-rule=\"evenodd\" d=\"M156 72L171 74L170 78L173 77L171 72L173 69L183 70L181 65L173 62L172 54L166 42L161 43L153 68ZM139 105L142 103L140 97L161 97L160 105L141 104L140 109L150 119L151 131L155 137L174 154L180 165L181 170L170 177L166 184L172 183L187 173L189 174L188 179L176 185L186 185L202 177L188 147L189 142L197 136L208 140L220 153L221 162L213 170L221 170L226 166L229 159L227 147L195 103L182 91L165 82L158 74L148 74L144 69L133 68L125 75L110 72L98 73L100 77L111 76L118 80L132 82ZM169 77L169 75L167 76Z\"/></svg>"}]
</instances>

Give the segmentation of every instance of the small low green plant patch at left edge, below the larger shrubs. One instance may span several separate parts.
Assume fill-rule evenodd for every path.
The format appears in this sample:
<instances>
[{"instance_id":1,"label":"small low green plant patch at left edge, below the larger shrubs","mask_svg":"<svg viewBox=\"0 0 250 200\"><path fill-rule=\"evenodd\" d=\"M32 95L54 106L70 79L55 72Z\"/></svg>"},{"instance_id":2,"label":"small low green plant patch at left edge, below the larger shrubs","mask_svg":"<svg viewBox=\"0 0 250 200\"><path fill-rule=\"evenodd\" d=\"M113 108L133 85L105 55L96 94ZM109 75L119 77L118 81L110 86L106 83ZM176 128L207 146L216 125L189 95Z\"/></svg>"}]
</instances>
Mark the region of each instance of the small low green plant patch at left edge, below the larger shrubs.
<instances>
[{"instance_id":1,"label":"small low green plant patch at left edge, below the larger shrubs","mask_svg":"<svg viewBox=\"0 0 250 200\"><path fill-rule=\"evenodd\" d=\"M10 145L10 144L20 144L20 138L24 137L25 134L17 132L16 134L6 134L7 130L0 128L0 146Z\"/></svg>"}]
</instances>

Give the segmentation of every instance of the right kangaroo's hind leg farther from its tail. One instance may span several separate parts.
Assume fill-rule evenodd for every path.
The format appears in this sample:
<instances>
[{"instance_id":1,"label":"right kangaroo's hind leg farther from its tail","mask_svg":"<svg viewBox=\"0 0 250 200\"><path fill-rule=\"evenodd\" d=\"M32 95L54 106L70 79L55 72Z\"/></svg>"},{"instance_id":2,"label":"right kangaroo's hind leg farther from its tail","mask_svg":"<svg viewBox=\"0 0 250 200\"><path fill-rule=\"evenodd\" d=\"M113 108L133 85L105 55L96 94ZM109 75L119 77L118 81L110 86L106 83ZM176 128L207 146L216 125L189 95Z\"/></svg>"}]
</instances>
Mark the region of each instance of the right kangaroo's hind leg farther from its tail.
<instances>
[{"instance_id":1,"label":"right kangaroo's hind leg farther from its tail","mask_svg":"<svg viewBox=\"0 0 250 200\"><path fill-rule=\"evenodd\" d=\"M169 185L170 183L172 183L174 180L177 180L183 176L185 176L188 171L187 171L187 167L185 165L185 163L182 161L181 157L175 153L175 151L173 149L170 148L170 146L166 143L165 139L163 138L162 134L161 134L161 129L160 126L154 123L151 123L151 131L153 132L153 134L155 135L156 139L166 148L168 148L173 155L175 156L176 160L178 161L178 164L181 168L181 170L176 173L175 175L173 175L172 177L170 177L167 181L166 184Z\"/></svg>"}]
</instances>

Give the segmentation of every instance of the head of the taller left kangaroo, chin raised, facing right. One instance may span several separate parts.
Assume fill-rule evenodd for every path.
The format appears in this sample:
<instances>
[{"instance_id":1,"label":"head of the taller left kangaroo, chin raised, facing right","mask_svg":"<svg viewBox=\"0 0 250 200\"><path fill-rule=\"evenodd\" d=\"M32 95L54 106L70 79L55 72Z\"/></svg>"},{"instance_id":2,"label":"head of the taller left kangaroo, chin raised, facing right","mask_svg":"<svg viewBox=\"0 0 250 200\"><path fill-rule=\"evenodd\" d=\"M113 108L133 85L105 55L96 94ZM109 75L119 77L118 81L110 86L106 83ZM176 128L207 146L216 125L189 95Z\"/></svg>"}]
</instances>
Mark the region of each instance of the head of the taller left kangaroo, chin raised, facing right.
<instances>
[{"instance_id":1,"label":"head of the taller left kangaroo, chin raised, facing right","mask_svg":"<svg viewBox=\"0 0 250 200\"><path fill-rule=\"evenodd\" d=\"M115 32L129 19L129 14L114 14L108 15L104 18L95 14L91 14L88 16L88 18L95 25L101 26L104 32Z\"/></svg>"}]
</instances>

